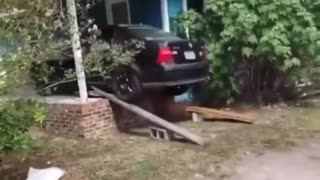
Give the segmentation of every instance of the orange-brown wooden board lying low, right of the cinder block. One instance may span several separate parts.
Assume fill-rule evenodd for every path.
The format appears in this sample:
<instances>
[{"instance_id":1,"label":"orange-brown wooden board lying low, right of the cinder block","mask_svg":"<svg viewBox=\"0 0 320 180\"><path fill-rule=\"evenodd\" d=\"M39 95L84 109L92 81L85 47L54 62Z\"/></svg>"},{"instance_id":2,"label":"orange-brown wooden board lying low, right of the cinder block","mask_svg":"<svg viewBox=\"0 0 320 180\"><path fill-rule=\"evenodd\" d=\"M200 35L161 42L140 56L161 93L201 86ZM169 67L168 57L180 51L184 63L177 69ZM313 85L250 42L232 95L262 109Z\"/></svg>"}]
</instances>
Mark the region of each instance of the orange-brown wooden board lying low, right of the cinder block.
<instances>
[{"instance_id":1,"label":"orange-brown wooden board lying low, right of the cinder block","mask_svg":"<svg viewBox=\"0 0 320 180\"><path fill-rule=\"evenodd\" d=\"M204 108L198 106L189 106L186 108L187 112L197 113L204 119L219 119L219 120L233 120L244 123L253 123L254 117L252 115L246 115L231 111L221 111L217 109Z\"/></svg>"}]
</instances>

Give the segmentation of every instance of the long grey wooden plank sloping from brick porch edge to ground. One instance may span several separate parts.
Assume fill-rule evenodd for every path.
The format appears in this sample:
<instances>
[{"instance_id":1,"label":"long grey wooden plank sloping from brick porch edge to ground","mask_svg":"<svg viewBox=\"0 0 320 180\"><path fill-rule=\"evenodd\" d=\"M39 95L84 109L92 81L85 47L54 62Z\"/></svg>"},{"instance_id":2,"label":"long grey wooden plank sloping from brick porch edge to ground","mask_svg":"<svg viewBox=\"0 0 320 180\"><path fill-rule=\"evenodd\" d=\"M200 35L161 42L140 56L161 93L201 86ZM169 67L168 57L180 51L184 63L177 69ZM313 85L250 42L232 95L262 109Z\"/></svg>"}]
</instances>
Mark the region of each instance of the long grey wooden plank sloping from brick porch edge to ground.
<instances>
[{"instance_id":1,"label":"long grey wooden plank sloping from brick porch edge to ground","mask_svg":"<svg viewBox=\"0 0 320 180\"><path fill-rule=\"evenodd\" d=\"M110 101L122 106L123 108L126 108L128 109L129 111L137 114L137 115L140 115L144 118L146 118L148 121L154 123L154 124L157 124L163 128L166 128L168 129L169 131L172 131L194 143L197 143L199 145L204 145L206 144L206 141L201 138L200 136L198 135L195 135L191 132L189 132L187 129L184 129L184 128L181 128L179 126L176 126L172 123L169 123L168 121L136 106L136 105L133 105L133 104L129 104L129 103L126 103L118 98L116 98L114 95L112 94L109 94L109 93L106 93L96 87L92 87L92 89L98 94L98 95L101 95L103 97L106 97L107 99L109 99Z\"/></svg>"}]
</instances>

